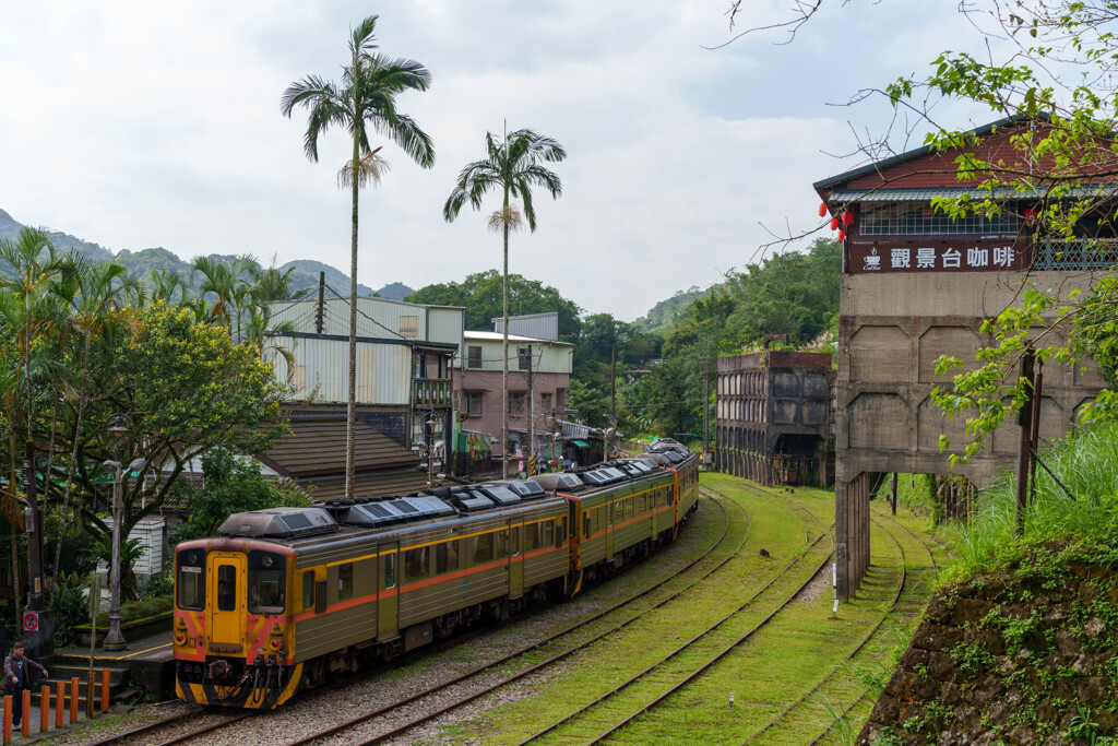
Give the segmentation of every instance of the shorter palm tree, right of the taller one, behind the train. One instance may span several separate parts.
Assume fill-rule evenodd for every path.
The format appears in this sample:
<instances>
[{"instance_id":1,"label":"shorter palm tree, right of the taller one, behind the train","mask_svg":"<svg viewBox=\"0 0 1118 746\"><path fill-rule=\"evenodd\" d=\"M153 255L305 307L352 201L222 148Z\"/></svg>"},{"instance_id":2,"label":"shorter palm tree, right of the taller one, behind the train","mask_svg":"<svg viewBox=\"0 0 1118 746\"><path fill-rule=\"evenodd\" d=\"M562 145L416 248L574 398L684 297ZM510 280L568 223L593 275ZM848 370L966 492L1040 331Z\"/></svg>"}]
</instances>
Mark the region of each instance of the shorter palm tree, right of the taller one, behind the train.
<instances>
[{"instance_id":1,"label":"shorter palm tree, right of the taller one, behind the train","mask_svg":"<svg viewBox=\"0 0 1118 746\"><path fill-rule=\"evenodd\" d=\"M502 296L504 309L504 363L501 375L502 412L501 450L504 454L501 474L509 478L509 233L521 227L520 213L510 204L511 198L520 198L524 205L524 217L528 228L536 232L536 209L532 207L532 187L543 187L558 199L562 195L562 182L552 171L542 166L543 162L557 163L567 158L567 151L551 138L537 134L531 130L517 130L505 133L504 142L498 141L491 132L485 133L485 150L487 158L468 163L458 173L458 182L443 206L443 217L452 223L458 217L466 200L475 210L482 207L482 198L486 192L499 189L504 201L500 210L489 219L491 230L501 232L504 238L504 273L502 275ZM534 433L529 424L528 442L533 444Z\"/></svg>"}]
</instances>

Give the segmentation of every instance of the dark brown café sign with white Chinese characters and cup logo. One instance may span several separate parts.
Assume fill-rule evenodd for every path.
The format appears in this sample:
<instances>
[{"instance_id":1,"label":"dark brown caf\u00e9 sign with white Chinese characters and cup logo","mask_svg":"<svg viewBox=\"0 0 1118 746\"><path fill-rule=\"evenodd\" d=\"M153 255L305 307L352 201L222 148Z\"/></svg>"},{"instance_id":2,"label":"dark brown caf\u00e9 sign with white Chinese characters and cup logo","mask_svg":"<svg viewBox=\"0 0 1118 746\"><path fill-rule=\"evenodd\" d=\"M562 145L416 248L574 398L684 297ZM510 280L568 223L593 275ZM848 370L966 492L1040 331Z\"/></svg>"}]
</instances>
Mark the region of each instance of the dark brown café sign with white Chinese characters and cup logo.
<instances>
[{"instance_id":1,"label":"dark brown caf\u00e9 sign with white Chinese characters and cup logo","mask_svg":"<svg viewBox=\"0 0 1118 746\"><path fill-rule=\"evenodd\" d=\"M1013 240L949 245L852 245L846 272L1007 272L1029 267L1024 244Z\"/></svg>"}]
</instances>

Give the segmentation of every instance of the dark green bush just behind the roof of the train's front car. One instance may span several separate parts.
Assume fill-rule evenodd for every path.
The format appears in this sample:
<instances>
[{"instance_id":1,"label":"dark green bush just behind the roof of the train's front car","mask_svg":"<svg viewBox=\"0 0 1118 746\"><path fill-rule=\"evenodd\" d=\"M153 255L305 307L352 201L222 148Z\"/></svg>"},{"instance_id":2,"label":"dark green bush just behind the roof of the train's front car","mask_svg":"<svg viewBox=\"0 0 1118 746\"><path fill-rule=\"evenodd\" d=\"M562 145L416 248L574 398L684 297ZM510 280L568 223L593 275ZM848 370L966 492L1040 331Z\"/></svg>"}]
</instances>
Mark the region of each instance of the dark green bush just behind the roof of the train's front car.
<instances>
[{"instance_id":1,"label":"dark green bush just behind the roof of the train's front car","mask_svg":"<svg viewBox=\"0 0 1118 746\"><path fill-rule=\"evenodd\" d=\"M311 504L291 481L265 479L252 460L220 448L202 457L202 485L190 495L190 520L174 527L171 542L214 536L233 513Z\"/></svg>"}]
</instances>

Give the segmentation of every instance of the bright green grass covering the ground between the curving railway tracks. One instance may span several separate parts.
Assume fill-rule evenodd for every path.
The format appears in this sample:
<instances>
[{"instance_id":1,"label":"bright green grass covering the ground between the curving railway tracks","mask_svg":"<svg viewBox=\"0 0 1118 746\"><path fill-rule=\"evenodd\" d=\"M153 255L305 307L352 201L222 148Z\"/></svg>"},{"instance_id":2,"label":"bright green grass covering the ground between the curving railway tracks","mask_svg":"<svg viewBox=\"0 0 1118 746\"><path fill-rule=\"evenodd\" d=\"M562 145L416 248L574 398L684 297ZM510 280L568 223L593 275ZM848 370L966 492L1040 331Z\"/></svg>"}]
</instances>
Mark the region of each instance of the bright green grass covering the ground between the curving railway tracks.
<instances>
[{"instance_id":1,"label":"bright green grass covering the ground between the curving railway tracks","mask_svg":"<svg viewBox=\"0 0 1118 746\"><path fill-rule=\"evenodd\" d=\"M765 489L723 474L703 474L702 483L737 500L750 513L752 531L735 560L680 599L653 612L647 620L636 622L568 659L560 671L541 674L518 687L514 693L499 695L498 699L503 700L501 703L489 707L473 719L447 726L442 737L455 743L518 743L561 719L721 618L803 551L804 525L808 526L813 538L822 529L803 510L790 508L786 500L811 510L824 525L831 523L834 517L834 493L830 491ZM731 520L745 520L741 511L733 507L728 509ZM694 533L709 531L711 536L701 544L695 540L691 550L698 551L699 546L709 546L717 538L721 530L721 513L718 512L716 521L716 511L708 507L700 512L701 519L693 526L697 529ZM906 514L903 508L897 520L927 540L927 522ZM928 555L916 539L892 523L892 519L883 517L881 520L890 527L890 532L897 536L907 553L910 576L901 598L900 616L911 621L930 595ZM717 530L711 528L716 522ZM892 601L900 582L900 551L884 531L873 531L871 539L873 565L868 582L860 589L859 597L842 605L835 617L832 617L833 596L827 567L808 592L798 596L747 643L615 737L629 743L738 744L764 728L840 665ZM736 546L737 540L733 544ZM770 557L760 557L760 548L765 548ZM778 580L755 603L755 607L739 615L741 618L736 622L723 625L729 629L724 630L722 639L729 641L742 634L775 608L819 564L828 548L830 541L824 538L816 550L808 553L785 579ZM655 558L638 568L638 573L650 577L663 570L664 566ZM637 573L632 577L636 578ZM603 595L624 593L610 589L612 585L607 584L598 592ZM907 635L911 634L911 624L902 621L888 618L853 663L845 664L842 672L821 687L815 696L767 730L760 743L806 743L831 721L833 712L842 712L852 706L843 728L836 731L856 733L861 727L860 720L868 715L872 696L861 703L855 703L858 698L866 690L866 682L873 684L888 679L890 671L887 667L893 650L907 644ZM669 665L670 676L657 672L647 677L647 680L634 684L631 692L610 700L608 707L599 708L590 717L582 718L580 725L567 726L560 733L589 736L604 730L610 719L636 710L643 702L666 690L688 670L705 662L712 650L708 646L701 652L681 653ZM732 707L729 705L731 691L735 693ZM830 738L833 743L845 740L835 734Z\"/></svg>"}]
</instances>

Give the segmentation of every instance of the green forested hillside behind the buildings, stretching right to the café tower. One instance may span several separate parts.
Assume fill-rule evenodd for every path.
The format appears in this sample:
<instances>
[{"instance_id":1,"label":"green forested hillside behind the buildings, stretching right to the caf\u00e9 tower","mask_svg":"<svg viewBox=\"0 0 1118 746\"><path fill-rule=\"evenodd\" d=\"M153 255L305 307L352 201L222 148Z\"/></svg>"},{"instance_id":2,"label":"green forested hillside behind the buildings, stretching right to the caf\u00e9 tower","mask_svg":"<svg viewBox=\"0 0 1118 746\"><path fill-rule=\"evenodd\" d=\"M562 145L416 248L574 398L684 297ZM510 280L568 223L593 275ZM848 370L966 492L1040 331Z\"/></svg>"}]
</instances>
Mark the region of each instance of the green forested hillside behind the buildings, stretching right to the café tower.
<instances>
[{"instance_id":1,"label":"green forested hillside behind the buildings, stretching right to the caf\u00e9 tower","mask_svg":"<svg viewBox=\"0 0 1118 746\"><path fill-rule=\"evenodd\" d=\"M632 323L609 313L582 315L559 290L510 275L510 314L559 312L560 339L576 346L567 403L581 422L603 427L616 416L627 434L699 433L703 402L711 400L704 376L713 380L719 355L751 349L766 334L787 334L796 348L830 349L821 337L837 323L839 270L837 242L818 239L805 252L730 272L705 291L680 291ZM407 300L462 305L466 329L492 330L501 315L501 275L489 270L427 285Z\"/></svg>"}]
</instances>

